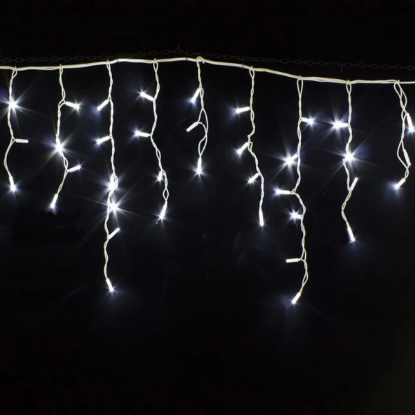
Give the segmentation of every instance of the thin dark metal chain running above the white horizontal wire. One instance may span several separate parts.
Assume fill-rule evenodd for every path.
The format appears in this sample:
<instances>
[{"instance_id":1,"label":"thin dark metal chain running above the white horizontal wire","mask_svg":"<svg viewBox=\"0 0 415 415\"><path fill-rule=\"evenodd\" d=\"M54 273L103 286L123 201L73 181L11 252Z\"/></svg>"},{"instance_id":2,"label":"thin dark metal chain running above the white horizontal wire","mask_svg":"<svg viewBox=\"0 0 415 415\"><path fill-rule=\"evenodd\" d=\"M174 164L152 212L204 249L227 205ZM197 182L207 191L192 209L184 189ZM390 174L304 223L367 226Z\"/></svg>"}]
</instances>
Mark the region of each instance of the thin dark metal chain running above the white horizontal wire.
<instances>
[{"instance_id":1,"label":"thin dark metal chain running above the white horizontal wire","mask_svg":"<svg viewBox=\"0 0 415 415\"><path fill-rule=\"evenodd\" d=\"M130 53L122 56L65 56L65 57L3 57L0 58L0 64L10 65L10 64L24 64L25 62L30 64L47 64L50 63L59 63L59 62L104 62L108 60L120 59L122 57L127 57L128 59L145 59L148 57L155 58L158 56L172 56L172 55L185 55L185 57L205 57L210 59L223 59L225 61L236 61L236 62L257 62L261 64L282 64L282 65L296 65L296 66L331 66L333 68L359 68L359 69L380 69L382 71L415 71L415 65L390 65L390 64L365 64L362 62L352 63L352 62L326 62L326 61L313 61L308 59L303 61L301 59L276 59L273 57L249 57L249 56L235 56L235 55L221 55L220 53L205 53L205 52L196 52L194 50L182 50L180 47L169 50L163 49L161 51L151 50L151 52L138 52Z\"/></svg>"}]
</instances>

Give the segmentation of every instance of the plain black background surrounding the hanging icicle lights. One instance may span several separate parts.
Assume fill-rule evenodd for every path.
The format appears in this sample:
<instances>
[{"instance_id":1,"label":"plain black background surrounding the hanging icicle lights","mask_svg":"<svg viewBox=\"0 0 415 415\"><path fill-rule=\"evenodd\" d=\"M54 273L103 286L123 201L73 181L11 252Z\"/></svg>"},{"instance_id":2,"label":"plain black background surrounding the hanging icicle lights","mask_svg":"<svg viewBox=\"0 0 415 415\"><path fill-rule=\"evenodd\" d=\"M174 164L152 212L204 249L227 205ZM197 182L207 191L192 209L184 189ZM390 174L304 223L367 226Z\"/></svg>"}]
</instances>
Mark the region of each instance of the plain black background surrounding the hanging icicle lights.
<instances>
[{"instance_id":1,"label":"plain black background surrounding the hanging icicle lights","mask_svg":"<svg viewBox=\"0 0 415 415\"><path fill-rule=\"evenodd\" d=\"M71 1L3 6L1 56L65 57L205 50L304 61L414 64L414 7L382 1ZM184 53L183 53L184 55ZM257 65L255 63L252 63ZM13 63L12 63L13 65ZM268 65L269 66L269 65ZM413 71L273 65L300 75L412 80ZM53 155L57 71L15 78L21 111L9 165L18 183L1 192L1 404L3 413L412 414L415 369L412 176L396 158L400 105L393 86L353 86L353 145L360 178L347 214L358 241L348 243L340 216L346 196L342 150L346 135L329 122L347 116L344 86L305 82L304 115L318 120L303 131L302 185L308 213L310 280L286 257L300 252L301 232L289 221L294 198L275 186L296 176L282 157L297 145L295 81L257 74L253 137L266 176L266 227L258 228L259 184L237 149L250 131L248 71L204 64L210 135L206 176L194 178L198 129L185 129L199 107L196 65L160 64L155 133L169 176L168 219L157 222L161 188L154 150L133 131L149 131L154 94L151 65L113 65L116 169L121 232L109 243L104 284L102 243L109 174L107 69L64 71L67 99L62 137L70 166L58 199L62 217L77 212L77 230L48 237L44 228L13 227L26 208L35 224L62 177ZM1 71L0 154L8 145L6 104L10 71ZM414 111L415 86L404 86ZM414 158L413 137L406 146ZM20 222L19 222L20 223ZM19 225L17 223L17 225ZM13 229L15 232L13 232ZM20 235L20 237L19 237ZM23 235L23 236L22 236ZM82 405L82 409L79 406Z\"/></svg>"}]
</instances>

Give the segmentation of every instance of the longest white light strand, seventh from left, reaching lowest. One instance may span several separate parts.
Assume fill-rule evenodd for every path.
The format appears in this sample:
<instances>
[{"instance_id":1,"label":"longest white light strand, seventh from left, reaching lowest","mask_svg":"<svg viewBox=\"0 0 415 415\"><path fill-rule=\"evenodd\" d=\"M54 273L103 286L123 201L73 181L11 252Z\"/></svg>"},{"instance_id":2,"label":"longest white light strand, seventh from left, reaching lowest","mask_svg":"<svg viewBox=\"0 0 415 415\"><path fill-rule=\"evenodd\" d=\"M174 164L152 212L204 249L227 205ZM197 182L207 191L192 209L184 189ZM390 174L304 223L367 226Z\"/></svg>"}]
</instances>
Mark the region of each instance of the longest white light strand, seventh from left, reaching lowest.
<instances>
[{"instance_id":1,"label":"longest white light strand, seventh from left, reaching lowest","mask_svg":"<svg viewBox=\"0 0 415 415\"><path fill-rule=\"evenodd\" d=\"M298 91L298 122L297 122L297 137L298 137L298 145L297 145L297 153L296 153L296 159L297 159L297 183L295 183L295 187L293 190L277 190L277 194L285 194L285 195L293 195L296 196L299 204L302 207L301 214L296 214L295 219L299 219L300 228L302 231L302 240L301 240L301 246L302 246L302 254L299 258L289 258L286 259L287 264L294 264L296 262L302 262L304 264L304 276L302 279L301 288L299 288L298 293L295 295L295 297L291 300L293 304L295 304L299 297L301 297L302 292L304 290L304 286L306 286L308 281L308 264L307 264L307 251L306 251L306 228L304 226L304 216L306 214L306 205L304 205L304 202L302 200L302 197L297 192L298 187L301 183L301 146L302 146L302 131L301 131L301 123L304 121L304 118L302 117L302 91L303 91L304 82L303 80L299 79L297 80L297 91Z\"/></svg>"}]
</instances>

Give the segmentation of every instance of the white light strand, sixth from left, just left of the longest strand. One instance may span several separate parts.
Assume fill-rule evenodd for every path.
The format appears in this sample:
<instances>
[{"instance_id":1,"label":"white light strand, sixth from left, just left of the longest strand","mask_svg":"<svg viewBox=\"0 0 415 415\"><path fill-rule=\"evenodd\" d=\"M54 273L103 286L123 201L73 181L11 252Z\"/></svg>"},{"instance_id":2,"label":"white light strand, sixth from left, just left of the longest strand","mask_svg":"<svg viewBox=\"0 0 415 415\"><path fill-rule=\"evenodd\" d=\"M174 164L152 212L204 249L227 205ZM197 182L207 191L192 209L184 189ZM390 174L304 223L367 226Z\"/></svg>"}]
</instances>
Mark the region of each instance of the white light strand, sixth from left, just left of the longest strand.
<instances>
[{"instance_id":1,"label":"white light strand, sixth from left, just left of the longest strand","mask_svg":"<svg viewBox=\"0 0 415 415\"><path fill-rule=\"evenodd\" d=\"M248 149L250 152L250 155L255 160L255 168L257 169L257 173L254 174L249 180L248 183L254 183L255 180L259 177L261 178L261 196L259 198L259 208L258 208L258 216L259 216L259 225L264 226L264 213L262 212L262 205L264 203L264 183L265 179L263 174L261 173L261 170L259 169L259 161L257 158L257 155L253 151L252 147L254 143L252 142L251 138L255 134L255 112L253 108L254 104L254 91L255 91L255 71L252 71L252 68L249 69L250 77L251 77L251 91L250 91L250 100L249 100L249 107L243 107L243 108L237 108L235 110L236 113L243 113L243 112L250 112L250 121L252 125L252 131L247 136L247 141L238 149L238 154L241 155L243 151Z\"/></svg>"}]
</instances>

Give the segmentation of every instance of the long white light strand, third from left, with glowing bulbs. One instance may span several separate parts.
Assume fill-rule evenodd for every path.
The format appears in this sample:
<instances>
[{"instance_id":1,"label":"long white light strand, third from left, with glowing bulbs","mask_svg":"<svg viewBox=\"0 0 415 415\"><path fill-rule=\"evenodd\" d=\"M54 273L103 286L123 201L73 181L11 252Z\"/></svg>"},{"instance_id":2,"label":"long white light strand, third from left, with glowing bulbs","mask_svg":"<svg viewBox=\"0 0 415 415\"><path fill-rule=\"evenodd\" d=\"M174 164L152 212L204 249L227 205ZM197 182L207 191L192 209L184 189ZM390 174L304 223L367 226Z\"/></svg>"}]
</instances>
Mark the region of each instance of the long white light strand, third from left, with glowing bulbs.
<instances>
[{"instance_id":1,"label":"long white light strand, third from left, with glowing bulbs","mask_svg":"<svg viewBox=\"0 0 415 415\"><path fill-rule=\"evenodd\" d=\"M104 102L102 102L102 104L100 104L97 107L97 109L98 111L101 111L104 107L107 106L107 104L109 104L109 107L110 107L109 133L108 133L108 136L98 139L97 142L100 143L100 142L111 141L111 176L109 177L109 186L108 186L109 193L107 196L107 215L105 216L105 221L104 221L104 230L105 230L105 234L107 234L107 238L104 241L104 259L105 259L104 277L105 277L105 282L107 282L109 291L112 293L114 291L114 288L113 288L113 285L111 284L111 280L109 279L108 273L107 273L107 267L108 267L108 261L109 261L107 246L108 246L110 239L112 239L120 231L120 228L116 228L112 232L109 232L109 229L108 229L109 216L111 213L115 214L118 208L118 203L116 203L114 199L114 192L116 192L116 190L118 189L118 177L116 175L116 165L114 163L114 157L116 154L116 142L114 141L114 138L113 138L114 103L113 103L112 95L111 95L112 88L113 88L113 77L112 77L112 72L111 72L111 65L109 63L107 64L107 70L108 70L108 75L109 75L108 97L106 100L104 100Z\"/></svg>"}]
</instances>

